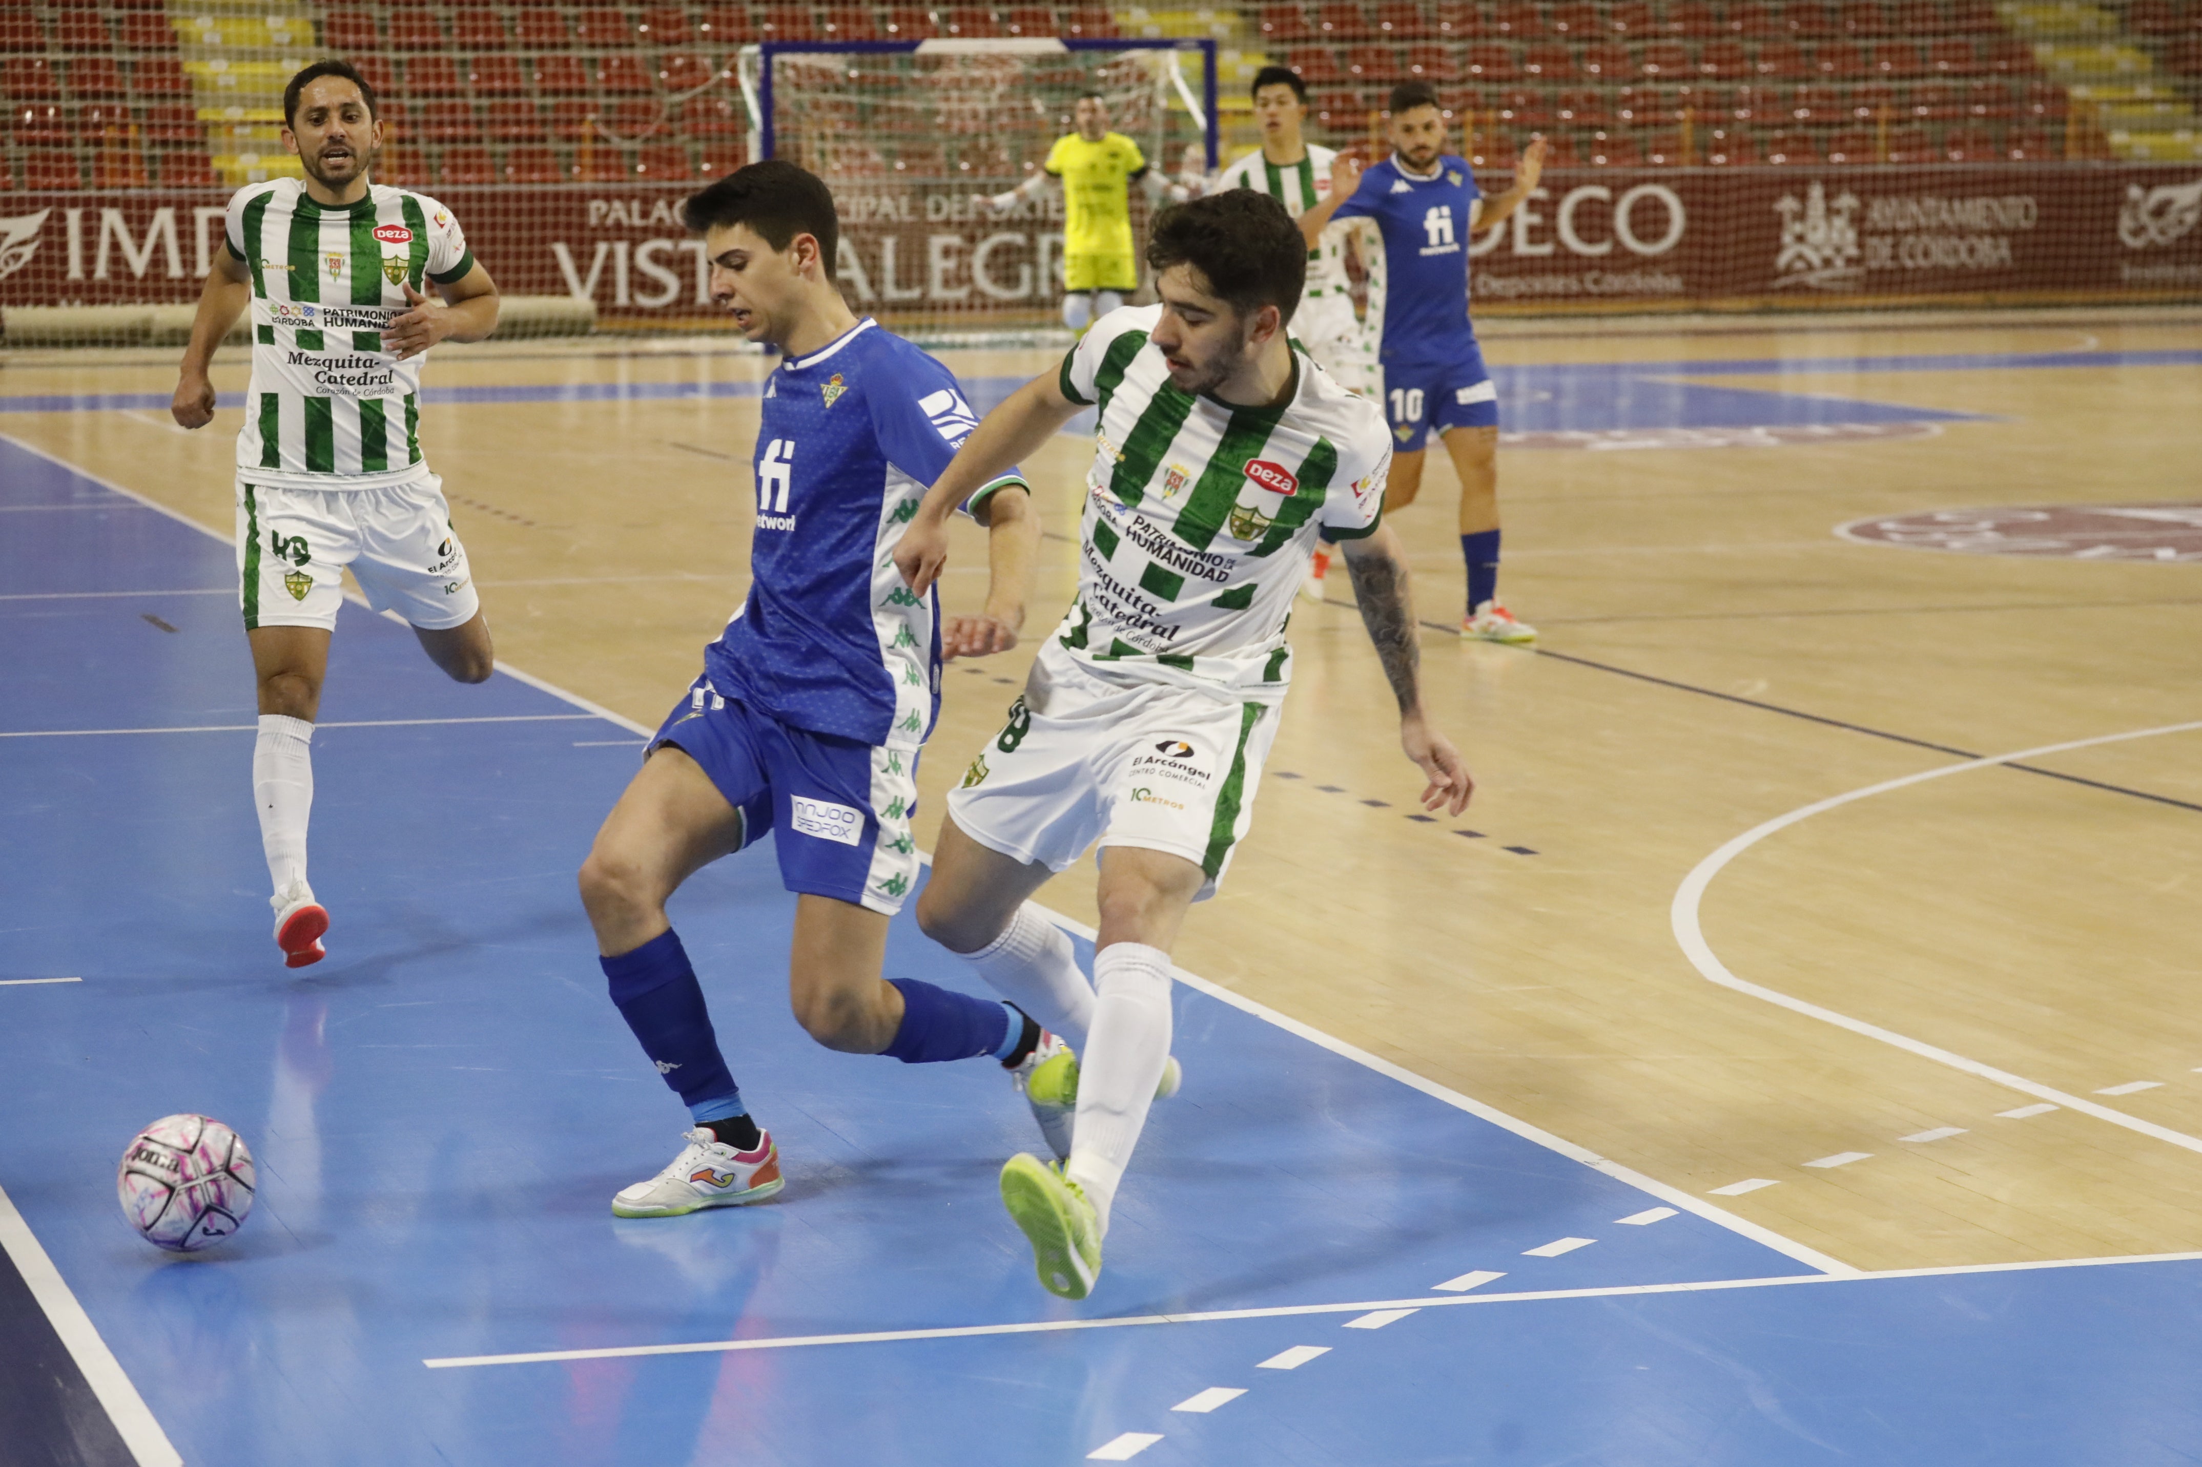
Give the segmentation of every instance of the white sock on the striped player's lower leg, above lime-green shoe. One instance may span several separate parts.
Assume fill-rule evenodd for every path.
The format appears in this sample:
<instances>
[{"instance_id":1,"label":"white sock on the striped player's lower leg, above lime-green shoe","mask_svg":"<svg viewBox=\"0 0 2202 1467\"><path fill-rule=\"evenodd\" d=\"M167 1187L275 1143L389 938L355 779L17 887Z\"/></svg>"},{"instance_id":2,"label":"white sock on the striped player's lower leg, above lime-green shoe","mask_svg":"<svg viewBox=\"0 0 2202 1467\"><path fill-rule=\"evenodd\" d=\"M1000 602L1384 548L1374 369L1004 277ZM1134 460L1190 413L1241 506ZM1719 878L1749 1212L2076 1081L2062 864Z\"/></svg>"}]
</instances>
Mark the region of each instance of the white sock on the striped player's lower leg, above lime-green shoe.
<instances>
[{"instance_id":1,"label":"white sock on the striped player's lower leg, above lime-green shoe","mask_svg":"<svg viewBox=\"0 0 2202 1467\"><path fill-rule=\"evenodd\" d=\"M1079 1054L1077 1139L1064 1172L1086 1190L1105 1234L1116 1183L1169 1065L1169 955L1136 941L1101 948L1094 988L1101 999Z\"/></svg>"}]
</instances>

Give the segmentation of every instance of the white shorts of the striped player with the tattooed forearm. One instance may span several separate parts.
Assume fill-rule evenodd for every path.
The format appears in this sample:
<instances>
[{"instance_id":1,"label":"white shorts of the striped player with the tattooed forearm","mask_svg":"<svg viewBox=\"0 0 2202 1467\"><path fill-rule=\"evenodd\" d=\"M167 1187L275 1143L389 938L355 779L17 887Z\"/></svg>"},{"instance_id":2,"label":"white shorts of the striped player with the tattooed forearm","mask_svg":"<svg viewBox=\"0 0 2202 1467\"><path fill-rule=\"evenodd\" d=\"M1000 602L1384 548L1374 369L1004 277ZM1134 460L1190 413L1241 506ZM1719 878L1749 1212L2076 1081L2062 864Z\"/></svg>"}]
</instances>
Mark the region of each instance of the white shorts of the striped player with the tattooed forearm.
<instances>
[{"instance_id":1,"label":"white shorts of the striped player with the tattooed forearm","mask_svg":"<svg viewBox=\"0 0 2202 1467\"><path fill-rule=\"evenodd\" d=\"M1253 825L1277 704L1103 682L1053 638L1002 728L949 790L949 816L989 851L1068 869L1094 840L1182 856L1216 895Z\"/></svg>"}]
</instances>

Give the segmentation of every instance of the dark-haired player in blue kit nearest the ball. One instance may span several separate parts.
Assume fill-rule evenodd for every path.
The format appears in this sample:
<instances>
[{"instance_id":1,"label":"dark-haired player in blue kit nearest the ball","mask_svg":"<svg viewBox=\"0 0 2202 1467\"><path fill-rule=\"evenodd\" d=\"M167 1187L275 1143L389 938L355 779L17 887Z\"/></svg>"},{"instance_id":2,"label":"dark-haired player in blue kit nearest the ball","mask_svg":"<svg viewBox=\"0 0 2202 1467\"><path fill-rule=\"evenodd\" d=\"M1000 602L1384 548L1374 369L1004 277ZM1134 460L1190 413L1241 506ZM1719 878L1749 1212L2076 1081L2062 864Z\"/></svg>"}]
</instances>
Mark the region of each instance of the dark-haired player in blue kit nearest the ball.
<instances>
[{"instance_id":1,"label":"dark-haired player in blue kit nearest the ball","mask_svg":"<svg viewBox=\"0 0 2202 1467\"><path fill-rule=\"evenodd\" d=\"M665 900L705 864L777 831L795 900L788 990L828 1049L905 1062L991 1056L1022 1073L1057 1045L1022 1010L881 979L887 919L918 875L909 820L940 660L1017 642L1039 521L1011 471L962 508L986 523L986 611L914 596L894 543L978 427L938 361L857 319L835 288L839 220L793 163L735 169L685 205L711 295L780 350L755 442L749 600L650 739L643 768L581 867L603 974L643 1054L689 1106L672 1166L619 1192L619 1216L678 1216L780 1192L780 1152L751 1119Z\"/></svg>"}]
</instances>

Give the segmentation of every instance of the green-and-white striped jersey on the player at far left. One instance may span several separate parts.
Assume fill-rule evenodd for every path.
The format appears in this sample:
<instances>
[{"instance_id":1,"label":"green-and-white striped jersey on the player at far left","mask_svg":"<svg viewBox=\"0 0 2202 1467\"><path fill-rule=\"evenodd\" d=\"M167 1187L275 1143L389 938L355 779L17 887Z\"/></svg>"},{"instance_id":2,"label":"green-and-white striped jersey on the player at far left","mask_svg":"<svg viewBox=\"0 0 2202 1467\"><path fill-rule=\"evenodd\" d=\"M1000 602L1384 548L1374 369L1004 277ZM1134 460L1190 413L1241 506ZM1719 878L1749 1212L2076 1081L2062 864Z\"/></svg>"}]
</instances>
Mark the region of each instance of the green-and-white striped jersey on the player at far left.
<instances>
[{"instance_id":1,"label":"green-and-white striped jersey on the player at far left","mask_svg":"<svg viewBox=\"0 0 2202 1467\"><path fill-rule=\"evenodd\" d=\"M253 380L238 475L277 488L385 488L427 475L421 361L383 350L405 284L429 293L473 268L451 211L372 185L319 205L299 178L229 198L229 253L253 273Z\"/></svg>"}]
</instances>

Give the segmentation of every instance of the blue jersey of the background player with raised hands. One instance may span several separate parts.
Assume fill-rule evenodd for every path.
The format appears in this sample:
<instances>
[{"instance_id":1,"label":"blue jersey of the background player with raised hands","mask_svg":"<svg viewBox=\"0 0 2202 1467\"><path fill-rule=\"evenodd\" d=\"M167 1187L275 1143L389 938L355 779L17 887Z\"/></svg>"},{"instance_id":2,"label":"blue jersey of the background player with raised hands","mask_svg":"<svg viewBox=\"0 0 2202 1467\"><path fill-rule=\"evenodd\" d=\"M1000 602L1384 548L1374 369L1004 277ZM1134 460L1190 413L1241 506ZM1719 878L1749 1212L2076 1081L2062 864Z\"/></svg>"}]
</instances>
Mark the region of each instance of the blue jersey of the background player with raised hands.
<instances>
[{"instance_id":1,"label":"blue jersey of the background player with raised hands","mask_svg":"<svg viewBox=\"0 0 2202 1467\"><path fill-rule=\"evenodd\" d=\"M1378 356L1389 367L1451 363L1473 345L1469 326L1469 218L1482 189L1467 158L1445 154L1436 174L1409 174L1398 156L1361 174L1332 218L1376 220L1383 235Z\"/></svg>"}]
</instances>

